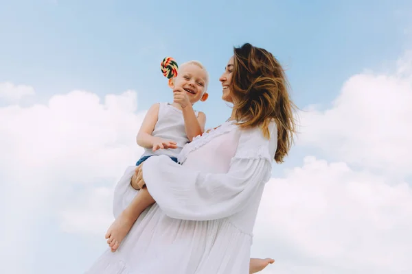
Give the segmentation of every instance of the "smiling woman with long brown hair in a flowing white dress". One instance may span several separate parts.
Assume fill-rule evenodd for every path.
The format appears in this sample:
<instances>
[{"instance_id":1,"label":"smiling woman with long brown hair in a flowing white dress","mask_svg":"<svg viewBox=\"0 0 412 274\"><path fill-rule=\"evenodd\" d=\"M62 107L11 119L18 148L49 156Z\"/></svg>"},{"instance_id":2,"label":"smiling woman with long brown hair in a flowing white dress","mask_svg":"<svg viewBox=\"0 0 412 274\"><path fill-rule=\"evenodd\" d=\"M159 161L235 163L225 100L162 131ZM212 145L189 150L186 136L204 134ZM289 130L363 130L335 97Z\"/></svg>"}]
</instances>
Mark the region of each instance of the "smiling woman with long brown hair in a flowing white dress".
<instances>
[{"instance_id":1,"label":"smiling woman with long brown hair in a flowing white dress","mask_svg":"<svg viewBox=\"0 0 412 274\"><path fill-rule=\"evenodd\" d=\"M121 182L139 188L139 216L115 253L88 273L249 272L252 231L272 161L283 162L295 123L284 70L271 53L250 44L234 49L222 82L233 103L230 119L185 146L179 162L152 157ZM119 183L120 185L120 183ZM135 195L118 189L116 208Z\"/></svg>"}]
</instances>

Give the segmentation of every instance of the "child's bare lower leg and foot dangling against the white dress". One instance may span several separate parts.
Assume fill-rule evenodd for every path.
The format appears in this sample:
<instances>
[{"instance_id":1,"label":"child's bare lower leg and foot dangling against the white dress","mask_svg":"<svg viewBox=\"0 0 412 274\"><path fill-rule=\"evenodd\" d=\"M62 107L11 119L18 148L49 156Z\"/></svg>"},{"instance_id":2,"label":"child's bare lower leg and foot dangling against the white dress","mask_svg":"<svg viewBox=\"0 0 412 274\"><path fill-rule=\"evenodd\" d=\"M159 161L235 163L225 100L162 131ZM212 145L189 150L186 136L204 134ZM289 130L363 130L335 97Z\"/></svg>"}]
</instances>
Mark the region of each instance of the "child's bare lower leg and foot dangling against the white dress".
<instances>
[{"instance_id":1,"label":"child's bare lower leg and foot dangling against the white dress","mask_svg":"<svg viewBox=\"0 0 412 274\"><path fill-rule=\"evenodd\" d=\"M126 237L141 212L152 203L155 203L155 200L149 194L148 189L143 188L139 190L130 205L123 210L112 225L108 227L105 237L108 239L107 243L113 252L119 248L120 242Z\"/></svg>"}]
</instances>

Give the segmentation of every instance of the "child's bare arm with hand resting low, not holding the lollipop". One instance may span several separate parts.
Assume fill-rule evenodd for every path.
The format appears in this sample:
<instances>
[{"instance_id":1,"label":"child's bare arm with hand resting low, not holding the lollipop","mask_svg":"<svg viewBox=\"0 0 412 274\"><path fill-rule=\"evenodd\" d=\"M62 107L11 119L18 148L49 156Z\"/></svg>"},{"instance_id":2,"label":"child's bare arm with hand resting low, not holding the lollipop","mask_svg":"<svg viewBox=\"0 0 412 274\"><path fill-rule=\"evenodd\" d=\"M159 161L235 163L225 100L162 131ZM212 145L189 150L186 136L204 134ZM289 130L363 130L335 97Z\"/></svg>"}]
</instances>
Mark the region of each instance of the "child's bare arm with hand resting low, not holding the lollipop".
<instances>
[{"instance_id":1,"label":"child's bare arm with hand resting low, not holding the lollipop","mask_svg":"<svg viewBox=\"0 0 412 274\"><path fill-rule=\"evenodd\" d=\"M164 140L162 138L153 137L152 132L155 129L157 119L159 116L159 103L152 105L146 116L144 117L143 123L141 123L139 133L136 137L137 145L144 147L146 149L176 149L176 142L173 140Z\"/></svg>"}]
</instances>

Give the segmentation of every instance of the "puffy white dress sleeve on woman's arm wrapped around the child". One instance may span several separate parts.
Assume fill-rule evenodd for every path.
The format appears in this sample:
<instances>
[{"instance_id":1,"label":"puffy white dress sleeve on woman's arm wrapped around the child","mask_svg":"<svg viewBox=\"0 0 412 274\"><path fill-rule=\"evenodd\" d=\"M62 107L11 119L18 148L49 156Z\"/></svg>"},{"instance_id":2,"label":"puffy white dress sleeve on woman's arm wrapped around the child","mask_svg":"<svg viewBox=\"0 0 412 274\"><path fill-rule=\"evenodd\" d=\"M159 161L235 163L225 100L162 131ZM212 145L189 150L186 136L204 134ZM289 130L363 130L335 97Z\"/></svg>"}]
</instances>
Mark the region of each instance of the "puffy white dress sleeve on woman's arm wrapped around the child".
<instances>
[{"instance_id":1,"label":"puffy white dress sleeve on woman's arm wrapped around the child","mask_svg":"<svg viewBox=\"0 0 412 274\"><path fill-rule=\"evenodd\" d=\"M174 219L222 219L243 210L258 186L271 177L277 144L275 123L270 132L267 139L259 128L242 130L225 174L193 171L165 155L149 158L143 164L143 177L150 195Z\"/></svg>"}]
</instances>

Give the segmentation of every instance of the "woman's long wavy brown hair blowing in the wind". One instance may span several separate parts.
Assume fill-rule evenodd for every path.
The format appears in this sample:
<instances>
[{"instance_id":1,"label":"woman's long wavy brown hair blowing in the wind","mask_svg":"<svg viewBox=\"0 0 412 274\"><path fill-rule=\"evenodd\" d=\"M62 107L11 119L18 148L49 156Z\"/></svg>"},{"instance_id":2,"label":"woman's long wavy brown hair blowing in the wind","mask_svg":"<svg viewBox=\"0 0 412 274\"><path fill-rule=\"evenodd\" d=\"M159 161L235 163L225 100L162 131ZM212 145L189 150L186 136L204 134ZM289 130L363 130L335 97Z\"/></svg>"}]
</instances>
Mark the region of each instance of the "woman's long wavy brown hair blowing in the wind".
<instances>
[{"instance_id":1,"label":"woman's long wavy brown hair blowing in the wind","mask_svg":"<svg viewBox=\"0 0 412 274\"><path fill-rule=\"evenodd\" d=\"M281 163L293 143L295 104L290 100L284 69L272 53L244 44L234 48L230 84L233 109L242 128L261 127L270 138L268 125L277 125L275 161Z\"/></svg>"}]
</instances>

